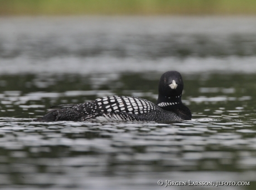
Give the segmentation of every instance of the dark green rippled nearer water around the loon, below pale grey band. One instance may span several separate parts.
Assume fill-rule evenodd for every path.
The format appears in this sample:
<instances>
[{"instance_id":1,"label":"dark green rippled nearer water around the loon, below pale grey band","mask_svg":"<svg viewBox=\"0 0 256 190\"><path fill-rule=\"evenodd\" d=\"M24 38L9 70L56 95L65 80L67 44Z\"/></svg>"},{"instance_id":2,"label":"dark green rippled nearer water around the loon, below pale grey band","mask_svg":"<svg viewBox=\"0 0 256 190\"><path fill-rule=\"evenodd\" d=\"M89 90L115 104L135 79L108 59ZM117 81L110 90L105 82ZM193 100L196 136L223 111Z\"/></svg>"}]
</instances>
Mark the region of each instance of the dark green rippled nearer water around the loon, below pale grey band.
<instances>
[{"instance_id":1,"label":"dark green rippled nearer water around the loon, below pale grey band","mask_svg":"<svg viewBox=\"0 0 256 190\"><path fill-rule=\"evenodd\" d=\"M105 95L155 102L157 75L0 76L0 187L160 189L162 179L249 181L255 188L254 75L184 74L183 100L193 112L191 121L32 121L49 106Z\"/></svg>"}]
</instances>

